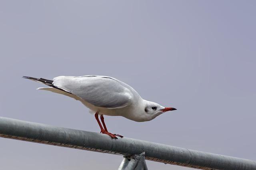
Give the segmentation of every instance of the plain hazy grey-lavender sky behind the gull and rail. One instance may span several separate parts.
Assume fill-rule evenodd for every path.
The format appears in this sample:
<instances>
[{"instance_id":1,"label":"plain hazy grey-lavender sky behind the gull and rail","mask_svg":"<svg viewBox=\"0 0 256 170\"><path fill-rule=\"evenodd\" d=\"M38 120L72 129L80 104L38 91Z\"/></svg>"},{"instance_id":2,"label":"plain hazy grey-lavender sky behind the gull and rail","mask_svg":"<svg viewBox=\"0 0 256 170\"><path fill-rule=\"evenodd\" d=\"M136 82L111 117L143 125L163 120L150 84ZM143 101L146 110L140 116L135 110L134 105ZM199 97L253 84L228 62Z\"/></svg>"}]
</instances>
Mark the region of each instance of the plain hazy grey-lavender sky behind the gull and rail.
<instances>
[{"instance_id":1,"label":"plain hazy grey-lavender sky behind the gull and rail","mask_svg":"<svg viewBox=\"0 0 256 170\"><path fill-rule=\"evenodd\" d=\"M99 132L80 102L22 79L107 75L176 107L125 137L256 160L256 1L0 1L0 116ZM47 111L46 111L47 110ZM50 110L50 111L49 111ZM122 157L0 138L8 170L117 169ZM147 161L148 168L185 170Z\"/></svg>"}]
</instances>

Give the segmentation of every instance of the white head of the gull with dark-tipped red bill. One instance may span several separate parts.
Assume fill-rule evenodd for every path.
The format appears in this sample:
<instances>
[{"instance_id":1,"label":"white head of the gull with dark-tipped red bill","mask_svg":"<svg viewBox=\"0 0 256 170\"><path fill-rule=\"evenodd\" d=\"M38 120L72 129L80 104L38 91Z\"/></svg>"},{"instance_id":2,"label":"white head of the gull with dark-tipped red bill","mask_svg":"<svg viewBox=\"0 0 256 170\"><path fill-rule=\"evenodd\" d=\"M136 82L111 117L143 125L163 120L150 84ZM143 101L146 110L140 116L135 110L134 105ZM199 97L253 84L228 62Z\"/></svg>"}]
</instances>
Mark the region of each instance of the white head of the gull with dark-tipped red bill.
<instances>
[{"instance_id":1,"label":"white head of the gull with dark-tipped red bill","mask_svg":"<svg viewBox=\"0 0 256 170\"><path fill-rule=\"evenodd\" d=\"M144 109L144 114L146 115L146 117L148 117L149 120L154 119L155 117L161 115L166 111L177 110L174 107L164 107L154 102L146 101L145 103L146 105Z\"/></svg>"}]
</instances>

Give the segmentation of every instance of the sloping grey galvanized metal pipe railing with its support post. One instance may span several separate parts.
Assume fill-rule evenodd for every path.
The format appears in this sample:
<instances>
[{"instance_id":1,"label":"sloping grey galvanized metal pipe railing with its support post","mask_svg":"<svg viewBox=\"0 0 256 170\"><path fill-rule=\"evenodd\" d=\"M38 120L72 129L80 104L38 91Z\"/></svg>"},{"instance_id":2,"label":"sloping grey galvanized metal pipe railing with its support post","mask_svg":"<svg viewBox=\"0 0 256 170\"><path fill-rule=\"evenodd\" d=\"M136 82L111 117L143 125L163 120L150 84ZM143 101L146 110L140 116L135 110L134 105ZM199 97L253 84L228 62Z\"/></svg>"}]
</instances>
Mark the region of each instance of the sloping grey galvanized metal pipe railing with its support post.
<instances>
[{"instance_id":1,"label":"sloping grey galvanized metal pipe railing with its support post","mask_svg":"<svg viewBox=\"0 0 256 170\"><path fill-rule=\"evenodd\" d=\"M125 137L115 140L105 134L54 127L6 117L0 117L0 137L122 155L125 158L119 169L125 169L125 167L129 169L127 167L131 166L128 166L128 161L131 159L136 162L140 158L145 158L146 160L165 164L205 170L256 170L256 161L253 160L172 147ZM137 155L137 157L134 158L134 155ZM144 160L139 162L141 162L141 167L144 166L144 169L147 169Z\"/></svg>"}]
</instances>

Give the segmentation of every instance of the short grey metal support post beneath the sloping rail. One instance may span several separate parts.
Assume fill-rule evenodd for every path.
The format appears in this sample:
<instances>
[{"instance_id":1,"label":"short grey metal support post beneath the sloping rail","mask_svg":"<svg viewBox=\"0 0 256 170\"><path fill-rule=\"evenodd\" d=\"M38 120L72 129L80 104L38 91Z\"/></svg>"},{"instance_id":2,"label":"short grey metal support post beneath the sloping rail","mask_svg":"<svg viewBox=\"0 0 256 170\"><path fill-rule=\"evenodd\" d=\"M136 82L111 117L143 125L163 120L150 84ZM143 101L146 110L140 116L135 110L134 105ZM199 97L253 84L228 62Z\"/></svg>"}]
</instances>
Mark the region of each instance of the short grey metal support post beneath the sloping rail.
<instances>
[{"instance_id":1,"label":"short grey metal support post beneath the sloping rail","mask_svg":"<svg viewBox=\"0 0 256 170\"><path fill-rule=\"evenodd\" d=\"M145 161L145 152L132 156L124 156L118 170L148 170Z\"/></svg>"}]
</instances>

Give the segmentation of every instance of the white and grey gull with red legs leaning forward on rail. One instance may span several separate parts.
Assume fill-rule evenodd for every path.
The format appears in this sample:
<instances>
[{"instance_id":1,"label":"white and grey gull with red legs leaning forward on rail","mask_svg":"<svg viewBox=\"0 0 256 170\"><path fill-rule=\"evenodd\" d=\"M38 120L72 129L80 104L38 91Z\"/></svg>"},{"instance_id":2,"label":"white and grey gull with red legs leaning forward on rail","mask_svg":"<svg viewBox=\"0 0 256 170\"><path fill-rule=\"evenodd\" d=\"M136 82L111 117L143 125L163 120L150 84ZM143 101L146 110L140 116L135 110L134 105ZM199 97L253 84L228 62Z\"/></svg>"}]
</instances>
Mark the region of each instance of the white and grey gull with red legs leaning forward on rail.
<instances>
[{"instance_id":1,"label":"white and grey gull with red legs leaning forward on rail","mask_svg":"<svg viewBox=\"0 0 256 170\"><path fill-rule=\"evenodd\" d=\"M112 139L123 136L108 132L103 115L123 116L133 121L143 122L150 121L166 111L176 110L174 107L163 107L142 99L131 86L109 76L58 76L53 80L28 76L22 78L50 86L38 88L38 90L63 94L82 102L91 113L95 113L100 133L107 134Z\"/></svg>"}]
</instances>

